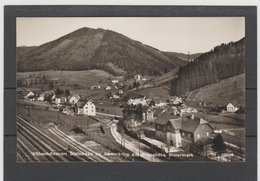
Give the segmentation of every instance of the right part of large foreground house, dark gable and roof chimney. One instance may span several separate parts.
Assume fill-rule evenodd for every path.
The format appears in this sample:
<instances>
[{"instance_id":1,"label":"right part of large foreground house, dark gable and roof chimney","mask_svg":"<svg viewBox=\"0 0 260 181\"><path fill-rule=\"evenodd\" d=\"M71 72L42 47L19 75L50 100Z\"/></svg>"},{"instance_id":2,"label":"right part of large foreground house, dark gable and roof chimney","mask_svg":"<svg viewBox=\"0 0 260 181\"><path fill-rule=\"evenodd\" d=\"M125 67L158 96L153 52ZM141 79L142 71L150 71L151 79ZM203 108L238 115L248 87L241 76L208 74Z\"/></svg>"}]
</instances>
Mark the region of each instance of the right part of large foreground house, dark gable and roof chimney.
<instances>
[{"instance_id":1,"label":"right part of large foreground house, dark gable and roof chimney","mask_svg":"<svg viewBox=\"0 0 260 181\"><path fill-rule=\"evenodd\" d=\"M189 146L191 143L206 143L212 138L214 129L203 118L191 116L184 117L181 124L182 146Z\"/></svg>"}]
</instances>

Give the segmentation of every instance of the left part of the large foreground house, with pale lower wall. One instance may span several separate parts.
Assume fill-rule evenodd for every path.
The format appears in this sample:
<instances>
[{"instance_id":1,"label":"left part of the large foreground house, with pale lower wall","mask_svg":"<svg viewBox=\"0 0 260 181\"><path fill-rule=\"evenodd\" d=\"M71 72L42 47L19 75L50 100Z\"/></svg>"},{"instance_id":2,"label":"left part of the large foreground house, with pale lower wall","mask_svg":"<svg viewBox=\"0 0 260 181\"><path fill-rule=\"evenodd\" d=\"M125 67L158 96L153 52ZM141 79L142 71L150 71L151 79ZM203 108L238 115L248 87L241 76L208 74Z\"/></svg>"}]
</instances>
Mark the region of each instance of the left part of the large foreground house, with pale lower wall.
<instances>
[{"instance_id":1,"label":"left part of the large foreground house, with pale lower wall","mask_svg":"<svg viewBox=\"0 0 260 181\"><path fill-rule=\"evenodd\" d=\"M155 137L169 146L180 147L182 117L163 112L155 122Z\"/></svg>"}]
</instances>

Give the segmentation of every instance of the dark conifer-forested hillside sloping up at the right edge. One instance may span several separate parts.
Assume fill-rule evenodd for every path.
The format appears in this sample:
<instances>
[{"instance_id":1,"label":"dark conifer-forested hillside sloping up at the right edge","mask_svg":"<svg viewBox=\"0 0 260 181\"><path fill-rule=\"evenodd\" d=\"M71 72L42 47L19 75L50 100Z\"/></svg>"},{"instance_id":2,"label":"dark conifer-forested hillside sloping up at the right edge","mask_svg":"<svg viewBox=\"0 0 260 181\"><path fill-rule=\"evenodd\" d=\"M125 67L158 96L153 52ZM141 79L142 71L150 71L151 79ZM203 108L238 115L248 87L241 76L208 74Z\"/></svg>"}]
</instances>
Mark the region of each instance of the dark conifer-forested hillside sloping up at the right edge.
<instances>
[{"instance_id":1,"label":"dark conifer-forested hillside sloping up at the right edge","mask_svg":"<svg viewBox=\"0 0 260 181\"><path fill-rule=\"evenodd\" d=\"M171 94L184 96L222 79L245 73L244 38L215 47L194 61L180 67L178 78L171 82Z\"/></svg>"}]
</instances>

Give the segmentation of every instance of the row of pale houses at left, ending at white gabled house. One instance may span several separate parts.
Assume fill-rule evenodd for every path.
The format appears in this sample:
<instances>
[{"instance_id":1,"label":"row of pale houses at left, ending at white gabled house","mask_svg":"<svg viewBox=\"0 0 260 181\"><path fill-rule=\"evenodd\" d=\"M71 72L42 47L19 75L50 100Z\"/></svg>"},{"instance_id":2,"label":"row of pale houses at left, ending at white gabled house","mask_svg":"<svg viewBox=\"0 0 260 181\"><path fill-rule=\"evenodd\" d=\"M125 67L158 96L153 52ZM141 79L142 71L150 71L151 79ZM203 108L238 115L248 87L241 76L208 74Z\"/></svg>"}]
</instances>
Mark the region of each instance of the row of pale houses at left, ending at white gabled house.
<instances>
[{"instance_id":1,"label":"row of pale houses at left, ending at white gabled house","mask_svg":"<svg viewBox=\"0 0 260 181\"><path fill-rule=\"evenodd\" d=\"M61 111L66 115L96 115L95 104L91 100L82 100L79 94L71 94L69 96L64 94L56 95L54 91L45 91L37 94L26 90L18 92L18 96L31 101L50 102L50 110Z\"/></svg>"}]
</instances>

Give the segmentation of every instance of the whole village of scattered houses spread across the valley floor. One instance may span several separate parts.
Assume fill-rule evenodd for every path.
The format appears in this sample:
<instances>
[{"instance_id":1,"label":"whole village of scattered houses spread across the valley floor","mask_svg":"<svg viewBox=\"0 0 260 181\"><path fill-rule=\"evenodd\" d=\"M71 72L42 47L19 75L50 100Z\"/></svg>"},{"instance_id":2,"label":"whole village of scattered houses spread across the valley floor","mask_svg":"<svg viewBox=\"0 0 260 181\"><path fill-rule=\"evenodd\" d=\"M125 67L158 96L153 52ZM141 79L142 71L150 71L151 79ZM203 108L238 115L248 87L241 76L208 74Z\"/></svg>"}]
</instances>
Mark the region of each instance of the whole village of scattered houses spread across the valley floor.
<instances>
[{"instance_id":1,"label":"whole village of scattered houses spread across the valley floor","mask_svg":"<svg viewBox=\"0 0 260 181\"><path fill-rule=\"evenodd\" d=\"M189 160L192 160L190 158L190 154L192 154L196 160L198 158L202 158L202 160L206 158L210 161L244 159L244 148L230 139L232 136L235 137L234 132L230 129L223 129L223 127L219 128L216 126L217 124L207 120L207 117L216 119L221 114L235 114L239 110L236 102L233 101L210 110L205 109L207 107L205 102L198 103L196 107L188 106L183 98L177 96L172 96L167 100L146 96L125 99L124 96L129 87L138 87L145 81L147 81L146 78L135 75L131 87L118 79L111 79L110 83L103 87L99 84L92 85L89 91L101 89L104 91L106 99L99 100L95 96L83 98L76 91L63 91L59 87L56 87L56 90L52 88L48 91L31 91L24 88L17 92L18 104L22 107L29 103L33 105L31 109L55 111L71 116L72 120L74 119L72 116L90 116L97 120L108 120L102 123L117 124L118 134L127 134L157 153L162 153L162 155L157 155L158 157L168 157L173 160L176 157L184 157L184 160L189 157ZM104 107L104 105L106 106ZM210 111L211 113L209 113ZM223 116L220 117L223 118ZM82 127L79 129L82 129L82 132L86 131ZM222 132L227 135L224 135L225 142L222 140L226 149L217 153L212 149L212 144L217 135L221 135ZM122 142L123 137L120 139Z\"/></svg>"}]
</instances>

